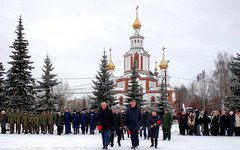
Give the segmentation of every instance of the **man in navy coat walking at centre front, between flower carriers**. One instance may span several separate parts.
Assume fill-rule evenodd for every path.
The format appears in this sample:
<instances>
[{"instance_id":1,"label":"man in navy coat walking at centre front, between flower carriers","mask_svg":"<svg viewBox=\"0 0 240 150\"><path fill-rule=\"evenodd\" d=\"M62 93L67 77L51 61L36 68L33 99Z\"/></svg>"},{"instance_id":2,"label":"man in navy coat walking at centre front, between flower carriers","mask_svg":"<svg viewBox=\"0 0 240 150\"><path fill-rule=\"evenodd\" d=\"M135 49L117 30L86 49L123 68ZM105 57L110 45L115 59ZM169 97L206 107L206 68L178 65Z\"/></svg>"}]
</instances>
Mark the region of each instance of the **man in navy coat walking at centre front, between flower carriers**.
<instances>
[{"instance_id":1,"label":"man in navy coat walking at centre front, between flower carriers","mask_svg":"<svg viewBox=\"0 0 240 150\"><path fill-rule=\"evenodd\" d=\"M124 127L131 132L131 149L135 149L139 145L138 130L142 128L143 118L135 100L131 101L130 108L127 109Z\"/></svg>"}]
</instances>

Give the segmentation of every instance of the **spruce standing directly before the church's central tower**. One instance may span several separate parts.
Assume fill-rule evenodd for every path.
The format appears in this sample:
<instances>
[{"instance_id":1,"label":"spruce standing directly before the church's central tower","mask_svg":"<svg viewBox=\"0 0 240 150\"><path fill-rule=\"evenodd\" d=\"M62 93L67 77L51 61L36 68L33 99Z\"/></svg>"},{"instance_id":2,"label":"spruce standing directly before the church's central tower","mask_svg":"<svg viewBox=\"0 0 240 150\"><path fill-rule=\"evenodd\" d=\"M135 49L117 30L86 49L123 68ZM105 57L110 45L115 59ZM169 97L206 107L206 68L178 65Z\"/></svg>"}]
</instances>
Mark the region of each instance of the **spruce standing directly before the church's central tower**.
<instances>
[{"instance_id":1,"label":"spruce standing directly before the church's central tower","mask_svg":"<svg viewBox=\"0 0 240 150\"><path fill-rule=\"evenodd\" d=\"M138 106L143 105L143 93L141 93L142 88L139 85L138 81L138 72L136 70L135 62L133 62L133 67L132 67L132 74L131 74L131 81L130 84L128 85L128 90L127 90L127 101L126 105L129 105L132 100L136 100Z\"/></svg>"}]
</instances>

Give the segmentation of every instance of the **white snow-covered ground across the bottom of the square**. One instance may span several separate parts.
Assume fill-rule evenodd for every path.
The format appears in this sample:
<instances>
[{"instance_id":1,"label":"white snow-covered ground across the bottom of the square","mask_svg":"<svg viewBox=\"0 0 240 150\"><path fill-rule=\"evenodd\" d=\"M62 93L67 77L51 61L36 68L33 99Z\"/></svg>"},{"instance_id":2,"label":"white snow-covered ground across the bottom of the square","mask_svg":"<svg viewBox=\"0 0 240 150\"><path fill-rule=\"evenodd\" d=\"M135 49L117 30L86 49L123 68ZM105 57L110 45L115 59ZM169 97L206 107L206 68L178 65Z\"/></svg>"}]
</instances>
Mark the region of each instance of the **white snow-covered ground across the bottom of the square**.
<instances>
[{"instance_id":1,"label":"white snow-covered ground across the bottom of the square","mask_svg":"<svg viewBox=\"0 0 240 150\"><path fill-rule=\"evenodd\" d=\"M98 132L98 131L97 131ZM115 138L114 147L109 150L130 150L131 141L127 136L122 140L122 147L118 147ZM151 150L150 141L140 138L138 150ZM100 134L95 135L24 135L0 134L0 150L101 150ZM222 136L181 136L178 125L172 128L172 140L162 141L160 132L158 149L161 150L229 150L240 149L240 137Z\"/></svg>"}]
</instances>

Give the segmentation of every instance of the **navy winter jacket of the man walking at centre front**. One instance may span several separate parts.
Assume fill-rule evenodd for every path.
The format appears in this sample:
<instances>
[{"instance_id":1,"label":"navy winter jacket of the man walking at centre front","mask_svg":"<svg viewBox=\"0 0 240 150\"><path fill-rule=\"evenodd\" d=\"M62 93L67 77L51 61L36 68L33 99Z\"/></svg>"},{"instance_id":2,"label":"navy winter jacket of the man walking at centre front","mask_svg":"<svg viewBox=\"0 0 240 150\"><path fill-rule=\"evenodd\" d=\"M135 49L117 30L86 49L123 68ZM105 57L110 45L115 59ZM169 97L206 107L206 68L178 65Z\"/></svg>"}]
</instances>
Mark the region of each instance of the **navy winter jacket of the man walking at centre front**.
<instances>
[{"instance_id":1,"label":"navy winter jacket of the man walking at centre front","mask_svg":"<svg viewBox=\"0 0 240 150\"><path fill-rule=\"evenodd\" d=\"M127 109L124 125L130 131L137 131L143 125L143 117L141 110L137 107L130 107Z\"/></svg>"}]
</instances>

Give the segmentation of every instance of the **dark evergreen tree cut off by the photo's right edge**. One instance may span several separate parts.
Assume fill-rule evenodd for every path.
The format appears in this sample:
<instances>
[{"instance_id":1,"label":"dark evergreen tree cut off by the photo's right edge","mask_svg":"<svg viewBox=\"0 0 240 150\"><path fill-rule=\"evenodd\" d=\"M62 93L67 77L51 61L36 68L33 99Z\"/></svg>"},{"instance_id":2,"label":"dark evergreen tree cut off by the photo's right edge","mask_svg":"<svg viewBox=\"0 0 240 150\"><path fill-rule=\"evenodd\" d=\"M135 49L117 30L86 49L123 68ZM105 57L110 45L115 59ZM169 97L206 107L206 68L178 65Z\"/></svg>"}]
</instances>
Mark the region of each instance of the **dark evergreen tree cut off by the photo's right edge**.
<instances>
[{"instance_id":1,"label":"dark evergreen tree cut off by the photo's right edge","mask_svg":"<svg viewBox=\"0 0 240 150\"><path fill-rule=\"evenodd\" d=\"M237 57L233 57L233 61L230 62L230 70L234 75L232 79L232 85L230 87L232 91L232 96L229 98L232 100L230 107L240 108L240 54L237 54Z\"/></svg>"}]
</instances>

